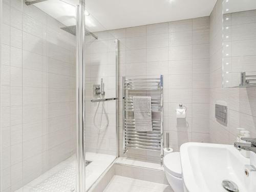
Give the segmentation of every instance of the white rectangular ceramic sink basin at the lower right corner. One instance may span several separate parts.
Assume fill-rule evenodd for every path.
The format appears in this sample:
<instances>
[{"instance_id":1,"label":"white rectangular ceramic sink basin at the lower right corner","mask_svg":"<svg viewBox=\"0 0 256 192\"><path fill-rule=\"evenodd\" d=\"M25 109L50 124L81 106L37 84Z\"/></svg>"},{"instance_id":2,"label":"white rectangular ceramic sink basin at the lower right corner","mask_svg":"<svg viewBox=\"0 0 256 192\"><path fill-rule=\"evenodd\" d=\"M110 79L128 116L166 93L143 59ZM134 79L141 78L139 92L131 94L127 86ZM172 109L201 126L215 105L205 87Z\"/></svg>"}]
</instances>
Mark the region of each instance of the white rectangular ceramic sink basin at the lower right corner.
<instances>
[{"instance_id":1,"label":"white rectangular ceramic sink basin at the lower right corner","mask_svg":"<svg viewBox=\"0 0 256 192\"><path fill-rule=\"evenodd\" d=\"M232 145L185 143L180 156L185 191L227 192L223 180L236 183L239 192L256 191L256 172L245 175L250 160Z\"/></svg>"}]
</instances>

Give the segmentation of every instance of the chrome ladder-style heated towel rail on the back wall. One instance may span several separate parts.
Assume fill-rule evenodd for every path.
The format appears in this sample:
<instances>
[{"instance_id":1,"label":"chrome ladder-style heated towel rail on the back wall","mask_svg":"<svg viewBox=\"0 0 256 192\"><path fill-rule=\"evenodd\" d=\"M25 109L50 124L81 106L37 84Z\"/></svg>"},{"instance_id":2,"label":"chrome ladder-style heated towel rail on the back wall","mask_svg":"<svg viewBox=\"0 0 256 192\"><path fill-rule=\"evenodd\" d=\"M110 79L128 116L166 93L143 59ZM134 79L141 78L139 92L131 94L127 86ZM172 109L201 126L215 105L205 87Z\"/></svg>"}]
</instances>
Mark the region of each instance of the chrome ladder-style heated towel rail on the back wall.
<instances>
[{"instance_id":1,"label":"chrome ladder-style heated towel rail on the back wall","mask_svg":"<svg viewBox=\"0 0 256 192\"><path fill-rule=\"evenodd\" d=\"M123 77L123 153L128 148L159 151L163 160L163 75L159 78ZM151 132L137 132L133 96L151 96Z\"/></svg>"}]
</instances>

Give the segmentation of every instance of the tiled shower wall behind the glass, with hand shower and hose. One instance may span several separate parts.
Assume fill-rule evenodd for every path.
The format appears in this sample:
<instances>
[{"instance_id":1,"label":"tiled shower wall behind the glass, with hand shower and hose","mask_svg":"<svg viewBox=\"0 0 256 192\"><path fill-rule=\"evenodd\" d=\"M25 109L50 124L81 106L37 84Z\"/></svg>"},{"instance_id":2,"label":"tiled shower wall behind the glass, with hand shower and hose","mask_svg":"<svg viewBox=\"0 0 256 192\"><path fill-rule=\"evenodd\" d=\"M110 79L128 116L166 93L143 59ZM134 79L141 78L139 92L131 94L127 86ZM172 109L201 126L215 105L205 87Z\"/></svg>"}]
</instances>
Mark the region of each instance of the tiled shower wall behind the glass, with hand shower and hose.
<instances>
[{"instance_id":1,"label":"tiled shower wall behind the glass, with hand shower and hose","mask_svg":"<svg viewBox=\"0 0 256 192\"><path fill-rule=\"evenodd\" d=\"M116 97L115 38L108 31L95 35L98 39L86 37L86 151L116 155L116 101L91 102L94 98L93 85L100 84L101 78L104 82L104 97ZM102 104L108 114L108 127Z\"/></svg>"}]
</instances>

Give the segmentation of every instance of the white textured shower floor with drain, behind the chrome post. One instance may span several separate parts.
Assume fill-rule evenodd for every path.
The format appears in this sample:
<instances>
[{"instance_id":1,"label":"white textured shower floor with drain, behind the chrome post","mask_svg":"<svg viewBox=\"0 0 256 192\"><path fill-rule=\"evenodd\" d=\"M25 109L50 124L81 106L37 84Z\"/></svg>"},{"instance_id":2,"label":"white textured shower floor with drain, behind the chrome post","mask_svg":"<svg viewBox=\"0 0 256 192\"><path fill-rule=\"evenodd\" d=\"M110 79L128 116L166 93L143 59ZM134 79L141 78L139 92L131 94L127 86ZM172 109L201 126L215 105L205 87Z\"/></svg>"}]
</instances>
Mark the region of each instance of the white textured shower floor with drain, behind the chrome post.
<instances>
[{"instance_id":1,"label":"white textured shower floor with drain, behind the chrome post","mask_svg":"<svg viewBox=\"0 0 256 192\"><path fill-rule=\"evenodd\" d=\"M113 155L86 153L86 159L92 161L86 167L86 190L115 158ZM75 174L76 161L73 155L15 192L70 192L75 187Z\"/></svg>"}]
</instances>

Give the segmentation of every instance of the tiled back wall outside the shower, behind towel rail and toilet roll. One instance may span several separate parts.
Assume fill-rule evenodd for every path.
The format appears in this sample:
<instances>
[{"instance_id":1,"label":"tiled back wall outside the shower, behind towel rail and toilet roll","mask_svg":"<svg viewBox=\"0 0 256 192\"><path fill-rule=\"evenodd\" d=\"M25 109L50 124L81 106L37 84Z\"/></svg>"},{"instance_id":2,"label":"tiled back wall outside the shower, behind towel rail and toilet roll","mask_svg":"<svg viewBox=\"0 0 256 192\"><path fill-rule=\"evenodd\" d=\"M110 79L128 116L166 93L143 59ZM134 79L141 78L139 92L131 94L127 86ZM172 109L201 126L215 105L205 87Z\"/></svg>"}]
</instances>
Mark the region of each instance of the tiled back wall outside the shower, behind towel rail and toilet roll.
<instances>
[{"instance_id":1,"label":"tiled back wall outside the shower, behind towel rail and toilet roll","mask_svg":"<svg viewBox=\"0 0 256 192\"><path fill-rule=\"evenodd\" d=\"M120 40L120 98L122 76L164 76L164 137L179 151L189 141L209 141L209 17L110 31ZM159 162L160 153L122 150L122 100L119 100L120 156ZM177 119L179 103L187 118Z\"/></svg>"}]
</instances>

